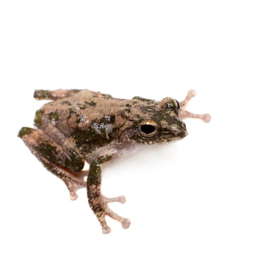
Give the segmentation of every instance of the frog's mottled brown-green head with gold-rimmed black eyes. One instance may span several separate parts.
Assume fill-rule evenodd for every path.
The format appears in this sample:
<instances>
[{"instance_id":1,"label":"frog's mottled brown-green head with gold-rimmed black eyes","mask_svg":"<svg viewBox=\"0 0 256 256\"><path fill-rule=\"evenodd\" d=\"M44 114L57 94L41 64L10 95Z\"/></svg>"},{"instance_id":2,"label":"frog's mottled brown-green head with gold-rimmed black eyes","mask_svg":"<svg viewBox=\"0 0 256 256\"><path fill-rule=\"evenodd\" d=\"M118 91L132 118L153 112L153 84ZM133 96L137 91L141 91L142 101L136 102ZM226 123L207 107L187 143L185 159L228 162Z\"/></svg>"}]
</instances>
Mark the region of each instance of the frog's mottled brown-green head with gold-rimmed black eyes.
<instances>
[{"instance_id":1,"label":"frog's mottled brown-green head with gold-rimmed black eyes","mask_svg":"<svg viewBox=\"0 0 256 256\"><path fill-rule=\"evenodd\" d=\"M157 145L183 139L188 132L178 117L179 109L179 102L172 98L143 102L137 108L131 108L122 141Z\"/></svg>"}]
</instances>

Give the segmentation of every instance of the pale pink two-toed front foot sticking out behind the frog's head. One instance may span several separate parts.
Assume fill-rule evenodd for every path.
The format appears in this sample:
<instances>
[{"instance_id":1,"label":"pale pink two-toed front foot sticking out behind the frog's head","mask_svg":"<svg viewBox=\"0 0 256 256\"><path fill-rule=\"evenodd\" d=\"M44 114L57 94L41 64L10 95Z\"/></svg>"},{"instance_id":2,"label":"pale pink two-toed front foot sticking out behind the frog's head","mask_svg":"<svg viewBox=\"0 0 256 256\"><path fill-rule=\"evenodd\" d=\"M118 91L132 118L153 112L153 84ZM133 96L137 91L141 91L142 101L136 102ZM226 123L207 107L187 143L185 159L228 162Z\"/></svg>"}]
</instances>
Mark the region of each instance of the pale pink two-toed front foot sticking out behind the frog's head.
<instances>
[{"instance_id":1,"label":"pale pink two-toed front foot sticking out behind the frog's head","mask_svg":"<svg viewBox=\"0 0 256 256\"><path fill-rule=\"evenodd\" d=\"M189 111L186 111L186 105L189 103L189 101L195 97L196 91L195 90L189 90L187 93L186 98L180 102L180 111L179 111L179 117L180 118L195 118L195 119L201 119L204 122L210 122L211 116L210 114L194 114Z\"/></svg>"}]
</instances>

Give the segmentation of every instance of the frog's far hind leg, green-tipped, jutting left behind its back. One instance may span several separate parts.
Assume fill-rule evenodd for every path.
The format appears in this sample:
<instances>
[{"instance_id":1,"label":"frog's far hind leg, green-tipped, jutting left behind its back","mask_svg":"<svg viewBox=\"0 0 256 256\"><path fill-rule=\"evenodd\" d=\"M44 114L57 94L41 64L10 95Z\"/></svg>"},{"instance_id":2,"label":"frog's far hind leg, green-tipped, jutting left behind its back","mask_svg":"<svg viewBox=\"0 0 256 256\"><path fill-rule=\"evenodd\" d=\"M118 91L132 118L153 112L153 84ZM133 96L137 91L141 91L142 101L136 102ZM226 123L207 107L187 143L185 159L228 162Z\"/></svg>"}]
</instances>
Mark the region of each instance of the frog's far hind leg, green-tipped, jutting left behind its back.
<instances>
[{"instance_id":1,"label":"frog's far hind leg, green-tipped, jutting left behind its back","mask_svg":"<svg viewBox=\"0 0 256 256\"><path fill-rule=\"evenodd\" d=\"M75 93L78 93L80 90L35 90L34 98L37 100L44 100L44 99L61 99L68 96L72 96Z\"/></svg>"}]
</instances>

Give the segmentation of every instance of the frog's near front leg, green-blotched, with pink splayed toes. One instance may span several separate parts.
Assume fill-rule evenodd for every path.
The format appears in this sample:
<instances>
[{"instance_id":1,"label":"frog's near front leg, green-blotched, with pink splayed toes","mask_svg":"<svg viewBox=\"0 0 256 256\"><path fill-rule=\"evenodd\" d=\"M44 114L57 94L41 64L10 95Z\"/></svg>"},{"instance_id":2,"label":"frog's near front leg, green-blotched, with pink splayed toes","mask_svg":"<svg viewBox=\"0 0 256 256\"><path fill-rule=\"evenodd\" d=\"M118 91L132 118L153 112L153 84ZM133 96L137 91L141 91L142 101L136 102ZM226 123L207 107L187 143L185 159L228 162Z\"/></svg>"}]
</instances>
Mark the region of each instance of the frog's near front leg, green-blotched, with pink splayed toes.
<instances>
[{"instance_id":1,"label":"frog's near front leg, green-blotched, with pink splayed toes","mask_svg":"<svg viewBox=\"0 0 256 256\"><path fill-rule=\"evenodd\" d=\"M90 164L87 177L88 203L102 226L103 234L108 234L111 232L111 228L108 227L106 222L107 215L114 220L119 221L124 229L127 229L131 224L131 221L128 218L122 218L108 207L108 203L110 202L119 202L124 204L125 197L120 196L116 198L106 198L101 193L102 168L111 159L111 154L98 157Z\"/></svg>"}]
</instances>

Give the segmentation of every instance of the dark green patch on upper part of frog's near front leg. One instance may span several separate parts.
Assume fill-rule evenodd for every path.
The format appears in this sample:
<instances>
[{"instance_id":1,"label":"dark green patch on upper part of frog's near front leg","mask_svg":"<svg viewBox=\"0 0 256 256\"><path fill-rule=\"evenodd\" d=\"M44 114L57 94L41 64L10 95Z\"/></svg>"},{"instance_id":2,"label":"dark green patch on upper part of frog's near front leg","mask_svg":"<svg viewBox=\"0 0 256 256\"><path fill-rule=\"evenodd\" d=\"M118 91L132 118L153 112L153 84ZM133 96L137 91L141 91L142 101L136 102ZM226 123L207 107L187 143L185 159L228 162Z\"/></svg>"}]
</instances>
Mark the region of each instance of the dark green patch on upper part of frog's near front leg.
<instances>
[{"instance_id":1,"label":"dark green patch on upper part of frog's near front leg","mask_svg":"<svg viewBox=\"0 0 256 256\"><path fill-rule=\"evenodd\" d=\"M100 164L104 162L108 162L112 159L111 155L105 155L102 157L98 157L90 164L90 171L87 177L87 188L88 186L95 185L99 186L102 180L102 172L100 168Z\"/></svg>"}]
</instances>

